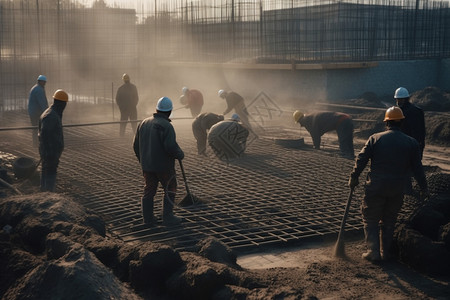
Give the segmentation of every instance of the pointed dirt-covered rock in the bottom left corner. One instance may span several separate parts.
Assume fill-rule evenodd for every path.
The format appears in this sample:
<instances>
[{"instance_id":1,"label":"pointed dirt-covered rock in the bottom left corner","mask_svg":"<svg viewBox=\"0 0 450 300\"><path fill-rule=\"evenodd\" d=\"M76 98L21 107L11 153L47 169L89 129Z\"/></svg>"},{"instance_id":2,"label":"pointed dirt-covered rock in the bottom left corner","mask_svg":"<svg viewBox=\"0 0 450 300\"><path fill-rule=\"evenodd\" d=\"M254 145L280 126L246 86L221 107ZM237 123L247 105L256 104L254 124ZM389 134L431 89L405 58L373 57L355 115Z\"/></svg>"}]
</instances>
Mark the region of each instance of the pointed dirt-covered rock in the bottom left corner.
<instances>
[{"instance_id":1,"label":"pointed dirt-covered rock in the bottom left corner","mask_svg":"<svg viewBox=\"0 0 450 300\"><path fill-rule=\"evenodd\" d=\"M81 245L44 262L11 286L2 299L141 299Z\"/></svg>"}]
</instances>

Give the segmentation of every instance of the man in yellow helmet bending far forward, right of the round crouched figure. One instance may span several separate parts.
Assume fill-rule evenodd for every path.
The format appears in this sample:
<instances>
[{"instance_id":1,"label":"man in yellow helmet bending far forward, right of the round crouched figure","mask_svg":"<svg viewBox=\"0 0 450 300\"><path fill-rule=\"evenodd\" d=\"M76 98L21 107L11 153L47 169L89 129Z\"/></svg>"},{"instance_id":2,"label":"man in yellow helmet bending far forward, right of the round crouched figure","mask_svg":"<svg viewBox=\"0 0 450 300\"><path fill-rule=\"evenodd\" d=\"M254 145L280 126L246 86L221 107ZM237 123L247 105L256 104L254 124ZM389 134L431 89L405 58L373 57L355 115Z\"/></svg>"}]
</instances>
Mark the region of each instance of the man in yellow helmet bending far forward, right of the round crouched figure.
<instances>
[{"instance_id":1,"label":"man in yellow helmet bending far forward, right of the round crouched figure","mask_svg":"<svg viewBox=\"0 0 450 300\"><path fill-rule=\"evenodd\" d=\"M344 157L354 158L353 149L353 121L348 114L340 112L318 112L305 115L296 110L293 114L294 122L300 123L308 130L313 140L314 148L320 149L322 135L336 130L339 149Z\"/></svg>"}]
</instances>

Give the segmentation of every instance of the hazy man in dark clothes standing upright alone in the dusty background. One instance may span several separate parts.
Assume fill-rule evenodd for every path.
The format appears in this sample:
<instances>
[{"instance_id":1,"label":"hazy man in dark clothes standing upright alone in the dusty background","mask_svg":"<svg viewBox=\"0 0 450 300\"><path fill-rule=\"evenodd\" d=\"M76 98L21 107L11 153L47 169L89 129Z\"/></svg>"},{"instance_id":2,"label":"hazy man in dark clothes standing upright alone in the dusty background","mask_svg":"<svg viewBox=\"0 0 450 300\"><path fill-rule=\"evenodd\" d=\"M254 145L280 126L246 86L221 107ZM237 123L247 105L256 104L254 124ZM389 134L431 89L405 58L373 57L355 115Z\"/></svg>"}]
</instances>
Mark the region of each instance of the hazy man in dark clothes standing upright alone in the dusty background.
<instances>
[{"instance_id":1,"label":"hazy man in dark clothes standing upright alone in the dusty background","mask_svg":"<svg viewBox=\"0 0 450 300\"><path fill-rule=\"evenodd\" d=\"M116 103L120 110L120 136L125 135L125 129L128 119L131 121L131 128L136 132L137 109L139 102L137 88L130 82L128 74L122 75L123 84L117 89Z\"/></svg>"}]
</instances>

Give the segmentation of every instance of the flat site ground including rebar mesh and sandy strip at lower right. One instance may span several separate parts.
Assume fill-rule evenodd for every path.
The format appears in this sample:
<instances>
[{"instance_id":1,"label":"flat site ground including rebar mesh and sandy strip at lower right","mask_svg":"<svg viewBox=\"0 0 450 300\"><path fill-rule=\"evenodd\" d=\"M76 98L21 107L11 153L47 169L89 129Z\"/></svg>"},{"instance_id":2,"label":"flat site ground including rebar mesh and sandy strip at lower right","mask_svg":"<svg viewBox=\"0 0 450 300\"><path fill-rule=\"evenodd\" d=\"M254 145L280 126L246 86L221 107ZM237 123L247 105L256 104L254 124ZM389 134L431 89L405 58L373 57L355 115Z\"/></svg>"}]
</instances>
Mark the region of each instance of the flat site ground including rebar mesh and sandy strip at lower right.
<instances>
[{"instance_id":1,"label":"flat site ground including rebar mesh and sandy strip at lower right","mask_svg":"<svg viewBox=\"0 0 450 300\"><path fill-rule=\"evenodd\" d=\"M180 226L162 226L158 215L157 226L148 227L142 224L140 214L143 179L132 150L130 126L127 136L120 138L119 125L108 124L108 116L93 120L82 110L82 106L74 105L71 111L68 106L64 115L66 142L57 192L101 215L121 239L130 243L162 242L189 251L195 250L199 240L212 236L238 254L242 267L262 273L273 271L268 276L274 282L295 286L299 283L292 276L306 272L316 283L310 292L326 299L351 299L352 293L367 293L366 299L449 299L448 278L430 279L400 263L376 266L360 258L364 250L359 212L362 187L355 191L347 219L348 264L333 259L333 244L349 192L348 175L354 163L339 155L334 133L324 135L322 150L314 150L309 134L292 124L291 116L280 116L255 128L256 135L250 137L241 158L223 162L211 150L208 157L198 156L192 119L175 114L173 125L186 154L183 163L189 188L201 203L175 208L175 213L183 217ZM105 124L92 124L98 122ZM29 126L25 112L5 112L0 123L2 128ZM72 126L76 124L84 126ZM39 160L30 130L5 130L0 136L2 161L12 162L20 156ZM295 140L300 138L305 145L298 147ZM280 145L280 140L293 144ZM356 152L364 142L355 139ZM423 162L449 172L448 148L428 146ZM177 173L180 201L186 190L178 166ZM23 193L38 189L30 180L14 182L14 186ZM161 197L158 192L156 214L161 211ZM413 205L407 198L403 211ZM292 267L299 269L289 271ZM320 280L314 279L319 273ZM378 289L380 282L382 289L369 295L370 287ZM359 292L352 292L350 287Z\"/></svg>"}]
</instances>

